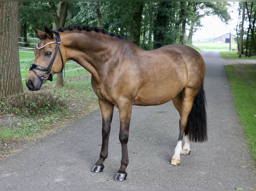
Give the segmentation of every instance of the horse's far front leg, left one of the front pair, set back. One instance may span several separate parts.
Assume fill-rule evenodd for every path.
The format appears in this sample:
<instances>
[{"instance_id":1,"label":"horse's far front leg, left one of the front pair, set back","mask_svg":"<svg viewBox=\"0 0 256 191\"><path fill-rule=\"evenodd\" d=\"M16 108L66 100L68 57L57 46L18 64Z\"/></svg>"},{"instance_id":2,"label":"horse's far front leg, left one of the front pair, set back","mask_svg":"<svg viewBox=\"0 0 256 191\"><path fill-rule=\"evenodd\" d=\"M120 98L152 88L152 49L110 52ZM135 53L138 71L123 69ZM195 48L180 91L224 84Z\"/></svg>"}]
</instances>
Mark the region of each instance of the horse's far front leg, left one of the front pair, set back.
<instances>
[{"instance_id":1,"label":"horse's far front leg, left one of the front pair, set back","mask_svg":"<svg viewBox=\"0 0 256 191\"><path fill-rule=\"evenodd\" d=\"M100 158L92 168L92 172L102 172L104 169L103 162L108 157L109 133L114 111L114 105L110 102L99 99L99 105L102 113L102 145Z\"/></svg>"}]
</instances>

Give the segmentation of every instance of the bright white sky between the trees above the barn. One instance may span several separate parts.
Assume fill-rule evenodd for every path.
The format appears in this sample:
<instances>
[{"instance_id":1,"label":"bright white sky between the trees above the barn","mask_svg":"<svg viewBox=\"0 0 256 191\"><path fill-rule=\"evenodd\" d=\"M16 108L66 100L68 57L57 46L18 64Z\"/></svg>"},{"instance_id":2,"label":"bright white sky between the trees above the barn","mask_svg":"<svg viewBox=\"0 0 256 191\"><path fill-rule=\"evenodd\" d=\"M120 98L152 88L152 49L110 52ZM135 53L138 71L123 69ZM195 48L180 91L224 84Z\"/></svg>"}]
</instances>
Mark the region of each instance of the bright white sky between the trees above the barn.
<instances>
[{"instance_id":1,"label":"bright white sky between the trees above the barn","mask_svg":"<svg viewBox=\"0 0 256 191\"><path fill-rule=\"evenodd\" d=\"M228 12L230 12L230 16L232 20L229 22L229 24L225 24L219 19L217 16L205 16L201 19L201 24L203 27L199 28L195 34L193 35L193 41L197 40L204 40L208 38L217 38L219 36L222 36L226 33L230 32L231 34L236 35L236 25L238 21L238 2L230 2L232 4L232 7L228 9ZM233 11L233 12L232 12Z\"/></svg>"}]
</instances>

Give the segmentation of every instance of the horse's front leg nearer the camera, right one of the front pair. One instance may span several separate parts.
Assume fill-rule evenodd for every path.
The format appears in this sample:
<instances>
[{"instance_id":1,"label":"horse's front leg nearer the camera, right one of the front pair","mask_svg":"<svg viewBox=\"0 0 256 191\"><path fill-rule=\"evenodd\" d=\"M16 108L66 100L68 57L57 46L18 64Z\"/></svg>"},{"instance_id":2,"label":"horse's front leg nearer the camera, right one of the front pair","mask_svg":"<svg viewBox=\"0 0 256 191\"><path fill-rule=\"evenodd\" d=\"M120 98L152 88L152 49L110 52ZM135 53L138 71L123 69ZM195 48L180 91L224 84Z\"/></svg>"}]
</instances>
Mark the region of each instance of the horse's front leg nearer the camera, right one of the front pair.
<instances>
[{"instance_id":1,"label":"horse's front leg nearer the camera, right one of the front pair","mask_svg":"<svg viewBox=\"0 0 256 191\"><path fill-rule=\"evenodd\" d=\"M117 181L123 181L127 177L126 167L129 163L127 143L129 138L131 113L132 113L132 103L129 103L123 107L119 107L119 115L120 115L119 140L122 146L122 159L121 159L121 166L115 176L115 180Z\"/></svg>"}]
</instances>

